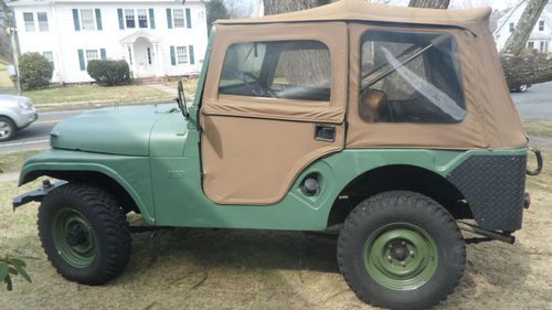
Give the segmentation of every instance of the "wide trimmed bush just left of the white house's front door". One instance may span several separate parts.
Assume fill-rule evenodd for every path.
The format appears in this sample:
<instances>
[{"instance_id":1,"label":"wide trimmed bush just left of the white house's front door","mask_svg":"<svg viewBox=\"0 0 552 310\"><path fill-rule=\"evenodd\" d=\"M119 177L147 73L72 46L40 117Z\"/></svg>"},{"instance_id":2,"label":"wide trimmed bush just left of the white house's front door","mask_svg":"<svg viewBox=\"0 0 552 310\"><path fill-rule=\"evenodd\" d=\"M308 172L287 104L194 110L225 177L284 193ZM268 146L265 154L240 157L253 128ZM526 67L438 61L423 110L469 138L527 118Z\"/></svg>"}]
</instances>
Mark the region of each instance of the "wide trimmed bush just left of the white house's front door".
<instances>
[{"instance_id":1,"label":"wide trimmed bush just left of the white house's front door","mask_svg":"<svg viewBox=\"0 0 552 310\"><path fill-rule=\"evenodd\" d=\"M130 82L130 68L126 61L89 61L88 75L105 86Z\"/></svg>"}]
</instances>

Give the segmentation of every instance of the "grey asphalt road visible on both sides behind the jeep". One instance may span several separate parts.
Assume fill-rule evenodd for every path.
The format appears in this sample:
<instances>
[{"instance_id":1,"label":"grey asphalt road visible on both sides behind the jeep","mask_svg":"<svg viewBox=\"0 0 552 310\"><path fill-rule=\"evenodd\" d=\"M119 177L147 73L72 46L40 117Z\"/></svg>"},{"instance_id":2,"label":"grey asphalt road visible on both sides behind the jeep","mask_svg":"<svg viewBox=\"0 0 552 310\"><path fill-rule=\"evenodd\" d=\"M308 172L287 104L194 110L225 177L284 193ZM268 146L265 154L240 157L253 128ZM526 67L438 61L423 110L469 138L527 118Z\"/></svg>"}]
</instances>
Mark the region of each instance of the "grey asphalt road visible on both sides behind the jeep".
<instances>
[{"instance_id":1,"label":"grey asphalt road visible on both sides behind the jeep","mask_svg":"<svg viewBox=\"0 0 552 310\"><path fill-rule=\"evenodd\" d=\"M512 94L522 118L552 120L552 83L534 85L524 94ZM15 139L1 142L1 152L44 149L49 147L49 133L55 124L85 110L42 113L29 128L18 132Z\"/></svg>"}]
</instances>

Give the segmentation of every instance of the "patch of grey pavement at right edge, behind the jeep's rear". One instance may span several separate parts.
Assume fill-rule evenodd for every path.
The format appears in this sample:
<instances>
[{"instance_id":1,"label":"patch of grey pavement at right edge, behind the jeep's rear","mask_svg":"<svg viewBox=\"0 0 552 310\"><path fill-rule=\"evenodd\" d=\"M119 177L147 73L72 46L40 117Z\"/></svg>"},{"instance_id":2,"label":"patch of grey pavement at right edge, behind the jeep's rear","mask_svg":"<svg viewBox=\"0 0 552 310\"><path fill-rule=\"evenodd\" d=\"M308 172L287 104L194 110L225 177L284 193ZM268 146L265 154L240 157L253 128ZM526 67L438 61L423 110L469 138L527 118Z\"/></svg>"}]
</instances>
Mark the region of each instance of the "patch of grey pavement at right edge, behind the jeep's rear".
<instances>
[{"instance_id":1,"label":"patch of grey pavement at right edge, behind the jeep's rear","mask_svg":"<svg viewBox=\"0 0 552 310\"><path fill-rule=\"evenodd\" d=\"M521 118L552 120L552 82L533 85L527 93L513 93Z\"/></svg>"}]
</instances>

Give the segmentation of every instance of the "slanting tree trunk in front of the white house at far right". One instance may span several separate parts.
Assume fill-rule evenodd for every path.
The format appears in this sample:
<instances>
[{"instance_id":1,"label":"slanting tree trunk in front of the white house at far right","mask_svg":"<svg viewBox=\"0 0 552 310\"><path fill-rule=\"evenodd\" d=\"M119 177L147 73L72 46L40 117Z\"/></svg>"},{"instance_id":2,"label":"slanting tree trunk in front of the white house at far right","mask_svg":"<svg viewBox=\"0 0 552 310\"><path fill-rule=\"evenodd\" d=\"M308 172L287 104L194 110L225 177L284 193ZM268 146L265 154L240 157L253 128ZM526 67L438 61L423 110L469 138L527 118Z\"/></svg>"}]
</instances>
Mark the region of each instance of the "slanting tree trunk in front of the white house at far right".
<instances>
[{"instance_id":1,"label":"slanting tree trunk in front of the white house at far right","mask_svg":"<svg viewBox=\"0 0 552 310\"><path fill-rule=\"evenodd\" d=\"M500 51L501 54L518 55L523 50L548 2L549 0L529 0L523 14L518 21L518 25L516 25L516 30L506 41L502 51Z\"/></svg>"}]
</instances>

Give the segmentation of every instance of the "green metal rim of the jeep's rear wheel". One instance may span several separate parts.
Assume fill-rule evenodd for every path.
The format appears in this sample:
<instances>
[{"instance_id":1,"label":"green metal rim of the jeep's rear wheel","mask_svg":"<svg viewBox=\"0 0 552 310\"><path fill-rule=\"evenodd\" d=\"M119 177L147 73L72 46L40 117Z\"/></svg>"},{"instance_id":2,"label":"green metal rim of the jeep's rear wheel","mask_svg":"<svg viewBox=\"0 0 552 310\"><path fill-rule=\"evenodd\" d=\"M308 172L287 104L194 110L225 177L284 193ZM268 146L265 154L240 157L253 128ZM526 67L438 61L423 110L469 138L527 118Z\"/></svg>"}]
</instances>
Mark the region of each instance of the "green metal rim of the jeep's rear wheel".
<instances>
[{"instance_id":1,"label":"green metal rim of the jeep's rear wheel","mask_svg":"<svg viewBox=\"0 0 552 310\"><path fill-rule=\"evenodd\" d=\"M414 290L437 270L435 240L424 229L407 223L393 223L375 231L363 253L370 277L392 290Z\"/></svg>"}]
</instances>

